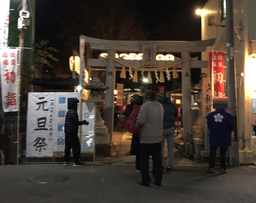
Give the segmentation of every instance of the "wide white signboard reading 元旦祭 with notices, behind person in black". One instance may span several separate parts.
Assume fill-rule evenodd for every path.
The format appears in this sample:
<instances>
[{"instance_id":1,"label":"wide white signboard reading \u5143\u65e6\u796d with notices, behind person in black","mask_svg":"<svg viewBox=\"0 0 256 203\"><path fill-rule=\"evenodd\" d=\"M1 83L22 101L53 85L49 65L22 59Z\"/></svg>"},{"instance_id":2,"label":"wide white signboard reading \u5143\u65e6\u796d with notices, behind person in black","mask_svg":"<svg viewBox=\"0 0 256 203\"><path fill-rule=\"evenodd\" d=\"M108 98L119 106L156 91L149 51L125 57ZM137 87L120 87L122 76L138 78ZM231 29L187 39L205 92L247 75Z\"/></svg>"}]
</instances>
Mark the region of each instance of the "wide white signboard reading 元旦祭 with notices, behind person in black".
<instances>
[{"instance_id":1,"label":"wide white signboard reading \u5143\u65e6\u796d with notices, behind person in black","mask_svg":"<svg viewBox=\"0 0 256 203\"><path fill-rule=\"evenodd\" d=\"M79 93L29 93L26 157L63 156L67 98L79 99ZM77 112L80 114L79 103ZM79 120L89 122L79 128L81 152L94 153L95 103L83 102L81 112L82 119Z\"/></svg>"}]
</instances>

